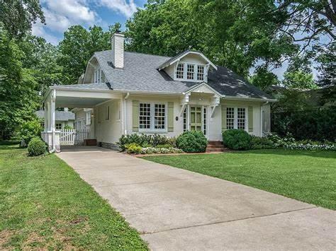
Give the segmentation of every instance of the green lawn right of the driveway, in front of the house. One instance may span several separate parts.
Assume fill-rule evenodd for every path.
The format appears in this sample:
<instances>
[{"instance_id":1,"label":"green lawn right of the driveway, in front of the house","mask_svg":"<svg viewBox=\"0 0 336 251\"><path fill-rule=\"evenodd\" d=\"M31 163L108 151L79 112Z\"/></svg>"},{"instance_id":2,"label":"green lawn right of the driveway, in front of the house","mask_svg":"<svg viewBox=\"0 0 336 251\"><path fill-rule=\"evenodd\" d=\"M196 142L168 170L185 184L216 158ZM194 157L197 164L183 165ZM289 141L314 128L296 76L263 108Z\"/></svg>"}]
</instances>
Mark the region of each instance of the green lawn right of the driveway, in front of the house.
<instances>
[{"instance_id":1,"label":"green lawn right of the driveway, in front of the house","mask_svg":"<svg viewBox=\"0 0 336 251\"><path fill-rule=\"evenodd\" d=\"M255 150L144 158L336 209L335 152Z\"/></svg>"}]
</instances>

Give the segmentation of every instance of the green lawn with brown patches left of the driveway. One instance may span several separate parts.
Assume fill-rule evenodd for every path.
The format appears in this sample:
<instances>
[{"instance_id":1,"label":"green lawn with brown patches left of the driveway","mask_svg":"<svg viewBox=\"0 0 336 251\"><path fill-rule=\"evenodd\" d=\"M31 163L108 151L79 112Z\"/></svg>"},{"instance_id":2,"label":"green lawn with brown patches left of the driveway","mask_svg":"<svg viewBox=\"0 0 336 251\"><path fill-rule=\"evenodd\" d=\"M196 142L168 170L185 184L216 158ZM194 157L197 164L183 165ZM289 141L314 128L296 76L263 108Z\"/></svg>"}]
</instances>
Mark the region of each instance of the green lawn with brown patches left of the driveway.
<instances>
[{"instance_id":1,"label":"green lawn with brown patches left of the driveway","mask_svg":"<svg viewBox=\"0 0 336 251\"><path fill-rule=\"evenodd\" d=\"M53 154L0 142L0 250L147 250L99 194Z\"/></svg>"}]
</instances>

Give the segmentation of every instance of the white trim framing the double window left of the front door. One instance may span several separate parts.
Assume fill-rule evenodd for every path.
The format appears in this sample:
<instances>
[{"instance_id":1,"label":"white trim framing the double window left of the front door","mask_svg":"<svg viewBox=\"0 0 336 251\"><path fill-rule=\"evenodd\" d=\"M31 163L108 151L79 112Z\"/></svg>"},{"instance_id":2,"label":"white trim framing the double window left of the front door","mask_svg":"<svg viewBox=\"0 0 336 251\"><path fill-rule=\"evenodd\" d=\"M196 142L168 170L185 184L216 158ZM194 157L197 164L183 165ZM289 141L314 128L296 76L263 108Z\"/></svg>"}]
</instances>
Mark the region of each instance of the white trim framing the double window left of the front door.
<instances>
[{"instance_id":1,"label":"white trim framing the double window left of the front door","mask_svg":"<svg viewBox=\"0 0 336 251\"><path fill-rule=\"evenodd\" d=\"M150 129L139 128L139 132L146 134L157 134L157 133L167 133L168 132L168 122L167 122L167 112L168 103L155 102L155 101L139 101L139 127L140 127L140 104L150 104ZM155 105L164 105L164 129L155 129Z\"/></svg>"}]
</instances>

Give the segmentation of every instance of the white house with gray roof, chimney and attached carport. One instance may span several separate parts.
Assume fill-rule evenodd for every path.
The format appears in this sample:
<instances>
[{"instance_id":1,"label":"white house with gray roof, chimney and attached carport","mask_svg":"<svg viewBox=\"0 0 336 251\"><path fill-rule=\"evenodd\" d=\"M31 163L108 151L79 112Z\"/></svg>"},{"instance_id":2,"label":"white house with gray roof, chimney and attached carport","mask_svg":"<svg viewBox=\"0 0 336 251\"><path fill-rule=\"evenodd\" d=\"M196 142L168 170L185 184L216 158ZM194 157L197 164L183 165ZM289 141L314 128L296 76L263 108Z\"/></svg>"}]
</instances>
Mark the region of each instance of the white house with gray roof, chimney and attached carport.
<instances>
[{"instance_id":1,"label":"white house with gray roof, chimney and attached carport","mask_svg":"<svg viewBox=\"0 0 336 251\"><path fill-rule=\"evenodd\" d=\"M85 126L109 148L122 134L178 136L199 130L208 140L220 141L226 129L256 136L270 131L275 100L201 52L187 50L176 57L124 52L119 33L111 42L111 50L89 59L82 83L50 86L45 94L43 135L50 149L60 150L55 107L77 107L76 113L90 108Z\"/></svg>"}]
</instances>

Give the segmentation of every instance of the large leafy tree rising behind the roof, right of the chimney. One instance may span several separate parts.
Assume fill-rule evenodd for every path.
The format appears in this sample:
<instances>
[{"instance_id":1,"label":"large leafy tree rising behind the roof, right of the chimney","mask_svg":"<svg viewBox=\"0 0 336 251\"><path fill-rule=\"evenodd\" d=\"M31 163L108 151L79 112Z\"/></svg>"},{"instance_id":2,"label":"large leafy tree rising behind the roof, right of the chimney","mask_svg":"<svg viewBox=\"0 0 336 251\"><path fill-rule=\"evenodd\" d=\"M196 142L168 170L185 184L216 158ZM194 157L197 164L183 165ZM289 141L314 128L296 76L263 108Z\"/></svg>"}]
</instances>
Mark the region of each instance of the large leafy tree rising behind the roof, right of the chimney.
<instances>
[{"instance_id":1,"label":"large leafy tree rising behind the roof, right of the chimney","mask_svg":"<svg viewBox=\"0 0 336 251\"><path fill-rule=\"evenodd\" d=\"M291 37L276 37L281 16L264 18L275 8L269 0L150 0L126 23L127 48L174 56L191 47L246 77L257 62L277 67L298 50Z\"/></svg>"}]
</instances>

